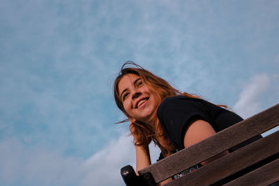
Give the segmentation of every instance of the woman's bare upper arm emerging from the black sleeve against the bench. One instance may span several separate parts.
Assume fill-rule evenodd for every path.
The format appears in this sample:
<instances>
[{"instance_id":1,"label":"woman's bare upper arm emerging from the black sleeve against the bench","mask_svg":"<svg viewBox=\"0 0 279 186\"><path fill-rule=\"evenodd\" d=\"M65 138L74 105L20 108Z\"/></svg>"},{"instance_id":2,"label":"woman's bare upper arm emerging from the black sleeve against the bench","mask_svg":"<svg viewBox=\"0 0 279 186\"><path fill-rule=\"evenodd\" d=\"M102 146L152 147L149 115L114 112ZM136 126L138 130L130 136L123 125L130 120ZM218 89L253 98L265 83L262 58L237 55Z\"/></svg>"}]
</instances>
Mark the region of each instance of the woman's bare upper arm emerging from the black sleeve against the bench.
<instances>
[{"instance_id":1,"label":"woman's bare upper arm emerging from the black sleeve against the bench","mask_svg":"<svg viewBox=\"0 0 279 186\"><path fill-rule=\"evenodd\" d=\"M197 142L211 137L214 134L216 134L216 132L208 122L202 120L193 121L193 123L190 123L188 129L185 132L183 139L184 147L188 148L189 146L193 146L194 144L197 144ZM225 152L211 157L209 160L206 160L201 164L204 165L208 164L209 162L213 162L214 160L227 155L228 153L229 151L226 150Z\"/></svg>"}]
</instances>

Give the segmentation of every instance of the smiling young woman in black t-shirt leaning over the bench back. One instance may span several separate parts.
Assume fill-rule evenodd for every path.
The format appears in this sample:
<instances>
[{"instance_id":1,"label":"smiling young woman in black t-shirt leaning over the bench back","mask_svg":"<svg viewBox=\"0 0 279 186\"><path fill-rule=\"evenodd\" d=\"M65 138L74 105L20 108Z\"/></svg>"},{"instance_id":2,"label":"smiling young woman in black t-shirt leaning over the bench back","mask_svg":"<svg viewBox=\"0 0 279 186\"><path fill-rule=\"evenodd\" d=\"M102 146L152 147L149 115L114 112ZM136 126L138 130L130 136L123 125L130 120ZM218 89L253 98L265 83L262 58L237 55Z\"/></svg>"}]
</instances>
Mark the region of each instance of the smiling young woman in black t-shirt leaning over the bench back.
<instances>
[{"instance_id":1,"label":"smiling young woman in black t-shirt leaning over the bench back","mask_svg":"<svg viewBox=\"0 0 279 186\"><path fill-rule=\"evenodd\" d=\"M162 151L160 157L163 158L243 120L223 105L211 104L197 95L181 93L164 79L130 61L124 63L114 81L114 99L117 107L127 116L125 121L130 121L137 171L151 164L151 141L159 146ZM259 138L250 139L229 151Z\"/></svg>"}]
</instances>

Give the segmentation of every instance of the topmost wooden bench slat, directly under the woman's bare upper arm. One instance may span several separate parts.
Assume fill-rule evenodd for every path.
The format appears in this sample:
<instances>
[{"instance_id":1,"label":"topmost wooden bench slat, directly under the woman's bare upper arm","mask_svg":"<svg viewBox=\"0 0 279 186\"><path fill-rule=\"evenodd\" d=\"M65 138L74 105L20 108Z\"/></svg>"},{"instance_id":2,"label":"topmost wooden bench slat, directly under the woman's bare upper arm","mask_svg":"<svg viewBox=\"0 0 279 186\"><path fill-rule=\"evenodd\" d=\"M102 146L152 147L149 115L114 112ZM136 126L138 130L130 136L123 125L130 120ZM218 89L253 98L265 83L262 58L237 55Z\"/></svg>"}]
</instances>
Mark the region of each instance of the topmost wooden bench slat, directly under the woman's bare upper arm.
<instances>
[{"instance_id":1,"label":"topmost wooden bench slat, directly under the woman's bare upper arm","mask_svg":"<svg viewBox=\"0 0 279 186\"><path fill-rule=\"evenodd\" d=\"M195 146L180 150L151 166L139 171L140 174L151 172L156 183L183 171L190 166L218 155L257 134L266 132L279 125L279 104L241 121L217 134L200 141ZM265 123L263 125L263 123Z\"/></svg>"}]
</instances>

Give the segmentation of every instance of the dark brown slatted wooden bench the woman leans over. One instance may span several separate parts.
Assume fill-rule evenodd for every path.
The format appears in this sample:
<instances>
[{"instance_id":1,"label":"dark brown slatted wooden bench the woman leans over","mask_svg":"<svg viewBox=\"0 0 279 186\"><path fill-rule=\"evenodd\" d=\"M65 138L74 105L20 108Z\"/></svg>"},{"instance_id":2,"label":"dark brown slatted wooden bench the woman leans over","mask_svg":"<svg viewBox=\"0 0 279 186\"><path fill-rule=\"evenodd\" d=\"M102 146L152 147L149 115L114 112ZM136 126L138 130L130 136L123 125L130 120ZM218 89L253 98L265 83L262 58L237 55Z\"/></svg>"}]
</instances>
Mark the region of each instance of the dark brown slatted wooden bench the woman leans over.
<instances>
[{"instance_id":1,"label":"dark brown slatted wooden bench the woman leans over","mask_svg":"<svg viewBox=\"0 0 279 186\"><path fill-rule=\"evenodd\" d=\"M159 162L151 164L135 175L132 166L121 169L126 185L156 185L171 178L195 164L204 162L219 153L240 144L257 134L279 125L279 104L266 109L244 121L236 123L217 134L200 141L194 146L180 150ZM271 185L279 180L279 131L252 144L244 146L228 155L206 164L191 173L172 180L166 186L174 185ZM264 164L266 158L269 163ZM266 160L266 161L267 161ZM259 168L250 170L238 177L243 169L258 164ZM247 172L247 171L246 171ZM232 176L234 174L234 176ZM233 179L233 180L232 180Z\"/></svg>"}]
</instances>

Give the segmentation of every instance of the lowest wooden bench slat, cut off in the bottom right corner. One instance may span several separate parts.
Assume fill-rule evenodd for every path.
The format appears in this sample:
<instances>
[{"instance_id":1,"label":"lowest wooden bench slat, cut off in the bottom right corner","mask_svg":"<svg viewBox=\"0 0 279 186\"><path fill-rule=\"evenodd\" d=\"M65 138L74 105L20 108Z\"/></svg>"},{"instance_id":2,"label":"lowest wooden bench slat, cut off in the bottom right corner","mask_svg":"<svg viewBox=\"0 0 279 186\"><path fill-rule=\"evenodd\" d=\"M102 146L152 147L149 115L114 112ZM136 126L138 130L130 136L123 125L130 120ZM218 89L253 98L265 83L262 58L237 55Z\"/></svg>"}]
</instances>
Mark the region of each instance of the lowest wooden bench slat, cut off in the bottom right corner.
<instances>
[{"instance_id":1,"label":"lowest wooden bench slat, cut off in the bottom right corner","mask_svg":"<svg viewBox=\"0 0 279 186\"><path fill-rule=\"evenodd\" d=\"M279 159L237 178L225 186L234 185L270 185L279 180Z\"/></svg>"}]
</instances>

